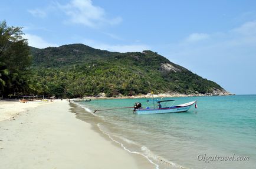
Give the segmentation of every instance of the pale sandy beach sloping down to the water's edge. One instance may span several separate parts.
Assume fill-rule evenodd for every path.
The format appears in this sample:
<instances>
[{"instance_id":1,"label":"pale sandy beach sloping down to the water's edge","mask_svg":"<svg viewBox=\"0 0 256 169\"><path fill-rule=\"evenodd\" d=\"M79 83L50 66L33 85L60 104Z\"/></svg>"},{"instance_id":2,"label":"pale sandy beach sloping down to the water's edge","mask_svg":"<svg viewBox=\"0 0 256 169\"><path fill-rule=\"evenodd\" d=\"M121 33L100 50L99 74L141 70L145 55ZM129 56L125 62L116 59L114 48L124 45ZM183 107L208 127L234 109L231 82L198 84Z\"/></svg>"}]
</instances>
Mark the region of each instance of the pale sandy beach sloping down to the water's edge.
<instances>
[{"instance_id":1,"label":"pale sandy beach sloping down to the water's edge","mask_svg":"<svg viewBox=\"0 0 256 169\"><path fill-rule=\"evenodd\" d=\"M76 119L67 100L0 102L1 168L155 168Z\"/></svg>"}]
</instances>

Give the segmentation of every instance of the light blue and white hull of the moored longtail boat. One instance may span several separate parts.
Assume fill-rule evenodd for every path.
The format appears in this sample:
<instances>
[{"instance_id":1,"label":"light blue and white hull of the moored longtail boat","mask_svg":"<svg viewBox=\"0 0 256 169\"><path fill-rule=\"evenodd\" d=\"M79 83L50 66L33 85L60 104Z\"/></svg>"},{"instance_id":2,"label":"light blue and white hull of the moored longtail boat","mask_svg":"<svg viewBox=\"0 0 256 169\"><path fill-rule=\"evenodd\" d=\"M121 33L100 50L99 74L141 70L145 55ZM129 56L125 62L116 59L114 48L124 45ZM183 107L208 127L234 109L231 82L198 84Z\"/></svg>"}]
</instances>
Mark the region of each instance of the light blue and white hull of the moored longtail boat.
<instances>
[{"instance_id":1,"label":"light blue and white hull of the moored longtail boat","mask_svg":"<svg viewBox=\"0 0 256 169\"><path fill-rule=\"evenodd\" d=\"M160 113L178 113L188 111L195 102L180 104L173 107L165 107L162 109L137 109L136 114L160 114Z\"/></svg>"}]
</instances>

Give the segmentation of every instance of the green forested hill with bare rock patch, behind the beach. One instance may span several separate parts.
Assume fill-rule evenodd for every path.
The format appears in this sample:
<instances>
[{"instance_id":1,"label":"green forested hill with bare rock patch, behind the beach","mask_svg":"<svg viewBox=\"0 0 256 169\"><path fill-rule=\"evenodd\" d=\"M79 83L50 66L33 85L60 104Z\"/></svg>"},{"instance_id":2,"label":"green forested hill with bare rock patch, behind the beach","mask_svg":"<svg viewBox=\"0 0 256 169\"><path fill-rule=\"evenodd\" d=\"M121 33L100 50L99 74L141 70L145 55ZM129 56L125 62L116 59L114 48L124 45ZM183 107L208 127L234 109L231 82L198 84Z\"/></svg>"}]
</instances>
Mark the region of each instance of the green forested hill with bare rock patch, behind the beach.
<instances>
[{"instance_id":1,"label":"green forested hill with bare rock patch, behind the beach","mask_svg":"<svg viewBox=\"0 0 256 169\"><path fill-rule=\"evenodd\" d=\"M30 48L31 80L38 91L57 97L132 96L177 92L182 94L225 92L150 50L109 52L83 44L58 48Z\"/></svg>"}]
</instances>

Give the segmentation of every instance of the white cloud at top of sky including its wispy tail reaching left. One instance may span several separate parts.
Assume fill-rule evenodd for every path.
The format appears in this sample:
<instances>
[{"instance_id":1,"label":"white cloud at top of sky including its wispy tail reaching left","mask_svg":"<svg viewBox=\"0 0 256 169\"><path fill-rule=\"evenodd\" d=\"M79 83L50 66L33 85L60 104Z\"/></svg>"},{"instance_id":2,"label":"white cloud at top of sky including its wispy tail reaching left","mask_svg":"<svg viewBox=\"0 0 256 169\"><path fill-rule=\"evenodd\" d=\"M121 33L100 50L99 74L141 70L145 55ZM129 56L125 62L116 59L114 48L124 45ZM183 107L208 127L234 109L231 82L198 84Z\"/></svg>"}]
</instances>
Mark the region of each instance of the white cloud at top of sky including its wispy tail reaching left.
<instances>
[{"instance_id":1,"label":"white cloud at top of sky including its wispy tail reaching left","mask_svg":"<svg viewBox=\"0 0 256 169\"><path fill-rule=\"evenodd\" d=\"M122 22L120 16L108 18L105 10L100 6L93 5L91 0L71 0L67 4L51 2L44 9L28 10L35 17L45 18L49 13L57 15L56 12L63 12L64 23L82 24L90 28L99 28L102 25L116 25Z\"/></svg>"}]
</instances>

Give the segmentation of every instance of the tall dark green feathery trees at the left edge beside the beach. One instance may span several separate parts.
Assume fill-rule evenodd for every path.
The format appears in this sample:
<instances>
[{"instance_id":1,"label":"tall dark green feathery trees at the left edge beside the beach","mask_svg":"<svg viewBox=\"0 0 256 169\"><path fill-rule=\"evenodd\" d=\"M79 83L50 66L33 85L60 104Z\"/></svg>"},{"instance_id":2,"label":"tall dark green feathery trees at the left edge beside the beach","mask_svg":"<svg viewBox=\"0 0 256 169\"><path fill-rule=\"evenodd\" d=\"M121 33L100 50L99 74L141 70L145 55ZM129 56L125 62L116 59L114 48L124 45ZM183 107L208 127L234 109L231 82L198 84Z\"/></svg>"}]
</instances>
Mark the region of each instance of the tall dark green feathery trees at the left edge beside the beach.
<instances>
[{"instance_id":1,"label":"tall dark green feathery trees at the left edge beside the beach","mask_svg":"<svg viewBox=\"0 0 256 169\"><path fill-rule=\"evenodd\" d=\"M6 21L0 22L0 92L2 90L5 96L29 92L27 70L31 65L31 57L27 39L22 37L24 33L21 29L7 26Z\"/></svg>"}]
</instances>

